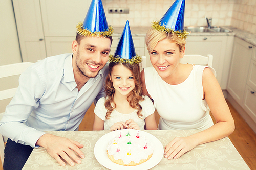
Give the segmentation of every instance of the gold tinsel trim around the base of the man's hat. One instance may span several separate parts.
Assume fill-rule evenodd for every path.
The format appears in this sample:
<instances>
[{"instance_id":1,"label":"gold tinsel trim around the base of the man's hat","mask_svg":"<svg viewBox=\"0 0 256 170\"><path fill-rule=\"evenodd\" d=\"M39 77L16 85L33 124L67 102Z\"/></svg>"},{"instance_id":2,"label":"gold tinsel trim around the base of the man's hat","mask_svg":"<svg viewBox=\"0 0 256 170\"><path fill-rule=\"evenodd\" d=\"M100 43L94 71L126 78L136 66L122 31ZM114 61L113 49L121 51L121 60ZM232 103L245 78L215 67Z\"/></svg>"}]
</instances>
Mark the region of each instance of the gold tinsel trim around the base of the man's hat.
<instances>
[{"instance_id":1,"label":"gold tinsel trim around the base of the man's hat","mask_svg":"<svg viewBox=\"0 0 256 170\"><path fill-rule=\"evenodd\" d=\"M83 25L81 22L79 22L76 26L76 29L77 29L77 33L80 34L81 36L103 36L103 37L111 37L112 34L113 34L113 27L112 26L109 26L109 30L108 31L101 31L101 32L91 32L90 30L88 29L84 29L83 28Z\"/></svg>"}]
</instances>

